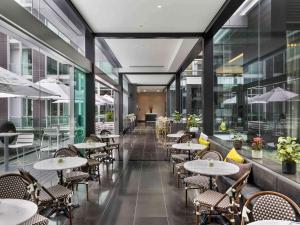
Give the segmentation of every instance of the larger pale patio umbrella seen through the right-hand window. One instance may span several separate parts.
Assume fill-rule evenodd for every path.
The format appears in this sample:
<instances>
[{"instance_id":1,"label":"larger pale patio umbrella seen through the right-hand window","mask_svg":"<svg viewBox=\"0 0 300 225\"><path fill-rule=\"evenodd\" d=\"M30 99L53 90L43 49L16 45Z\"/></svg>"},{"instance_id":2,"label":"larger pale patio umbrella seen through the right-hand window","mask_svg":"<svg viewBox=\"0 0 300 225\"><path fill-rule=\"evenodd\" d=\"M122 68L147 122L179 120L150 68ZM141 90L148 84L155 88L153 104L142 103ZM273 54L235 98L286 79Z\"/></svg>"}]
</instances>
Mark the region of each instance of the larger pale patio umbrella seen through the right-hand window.
<instances>
[{"instance_id":1,"label":"larger pale patio umbrella seen through the right-hand window","mask_svg":"<svg viewBox=\"0 0 300 225\"><path fill-rule=\"evenodd\" d=\"M271 91L262 95L257 95L252 98L252 102L284 102L297 97L298 94L287 91L280 87L274 88Z\"/></svg>"}]
</instances>

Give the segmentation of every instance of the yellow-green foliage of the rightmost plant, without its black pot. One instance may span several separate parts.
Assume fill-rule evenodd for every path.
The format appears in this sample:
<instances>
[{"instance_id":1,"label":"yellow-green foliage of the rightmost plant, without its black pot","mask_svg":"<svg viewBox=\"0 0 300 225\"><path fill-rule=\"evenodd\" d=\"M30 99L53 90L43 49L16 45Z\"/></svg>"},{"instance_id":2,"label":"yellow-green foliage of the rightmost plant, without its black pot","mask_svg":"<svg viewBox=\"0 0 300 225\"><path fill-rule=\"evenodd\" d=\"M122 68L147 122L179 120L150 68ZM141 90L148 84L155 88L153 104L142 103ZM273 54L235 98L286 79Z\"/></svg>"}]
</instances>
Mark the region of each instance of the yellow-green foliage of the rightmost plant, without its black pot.
<instances>
[{"instance_id":1,"label":"yellow-green foliage of the rightmost plant, without its black pot","mask_svg":"<svg viewBox=\"0 0 300 225\"><path fill-rule=\"evenodd\" d=\"M295 137L279 137L277 154L281 161L300 161L300 145Z\"/></svg>"}]
</instances>

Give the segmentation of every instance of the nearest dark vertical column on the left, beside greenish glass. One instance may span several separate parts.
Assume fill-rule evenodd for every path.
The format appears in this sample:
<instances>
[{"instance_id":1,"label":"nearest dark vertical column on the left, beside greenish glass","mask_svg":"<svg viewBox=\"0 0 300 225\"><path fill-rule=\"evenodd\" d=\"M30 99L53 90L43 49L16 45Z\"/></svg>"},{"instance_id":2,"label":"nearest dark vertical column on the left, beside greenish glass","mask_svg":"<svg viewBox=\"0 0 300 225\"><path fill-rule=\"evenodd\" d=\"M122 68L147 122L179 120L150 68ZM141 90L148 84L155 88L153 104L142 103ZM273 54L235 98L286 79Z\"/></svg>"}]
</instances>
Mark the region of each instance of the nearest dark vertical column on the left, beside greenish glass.
<instances>
[{"instance_id":1,"label":"nearest dark vertical column on the left, beside greenish glass","mask_svg":"<svg viewBox=\"0 0 300 225\"><path fill-rule=\"evenodd\" d=\"M85 124L88 137L90 134L95 134L95 39L89 31L86 31L85 35L85 55L92 62L92 71L86 74L85 79Z\"/></svg>"}]
</instances>

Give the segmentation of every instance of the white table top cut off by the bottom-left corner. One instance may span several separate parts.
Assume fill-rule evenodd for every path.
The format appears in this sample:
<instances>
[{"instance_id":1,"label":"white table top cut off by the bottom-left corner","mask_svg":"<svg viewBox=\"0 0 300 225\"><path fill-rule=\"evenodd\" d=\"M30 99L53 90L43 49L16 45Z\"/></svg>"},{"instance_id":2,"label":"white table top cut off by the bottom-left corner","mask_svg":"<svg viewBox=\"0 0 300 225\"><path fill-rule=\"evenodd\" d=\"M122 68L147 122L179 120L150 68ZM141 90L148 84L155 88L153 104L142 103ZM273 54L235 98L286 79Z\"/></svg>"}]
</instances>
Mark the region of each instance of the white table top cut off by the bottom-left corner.
<instances>
[{"instance_id":1,"label":"white table top cut off by the bottom-left corner","mask_svg":"<svg viewBox=\"0 0 300 225\"><path fill-rule=\"evenodd\" d=\"M0 199L0 225L24 223L37 213L38 207L22 199Z\"/></svg>"}]
</instances>

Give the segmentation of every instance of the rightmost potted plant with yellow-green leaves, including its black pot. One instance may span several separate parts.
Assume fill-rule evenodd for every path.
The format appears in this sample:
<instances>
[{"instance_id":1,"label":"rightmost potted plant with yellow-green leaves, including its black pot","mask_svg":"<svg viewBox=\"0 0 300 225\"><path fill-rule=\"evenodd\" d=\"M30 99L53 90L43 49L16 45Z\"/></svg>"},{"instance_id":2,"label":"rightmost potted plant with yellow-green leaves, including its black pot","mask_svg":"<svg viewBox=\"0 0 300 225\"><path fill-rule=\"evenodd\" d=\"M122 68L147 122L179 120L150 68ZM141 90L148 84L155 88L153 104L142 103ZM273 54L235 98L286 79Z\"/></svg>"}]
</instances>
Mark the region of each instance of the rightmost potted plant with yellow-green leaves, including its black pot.
<instances>
[{"instance_id":1,"label":"rightmost potted plant with yellow-green leaves, including its black pot","mask_svg":"<svg viewBox=\"0 0 300 225\"><path fill-rule=\"evenodd\" d=\"M295 174L297 171L297 161L300 161L300 145L295 137L279 137L277 153L282 161L282 172Z\"/></svg>"}]
</instances>

